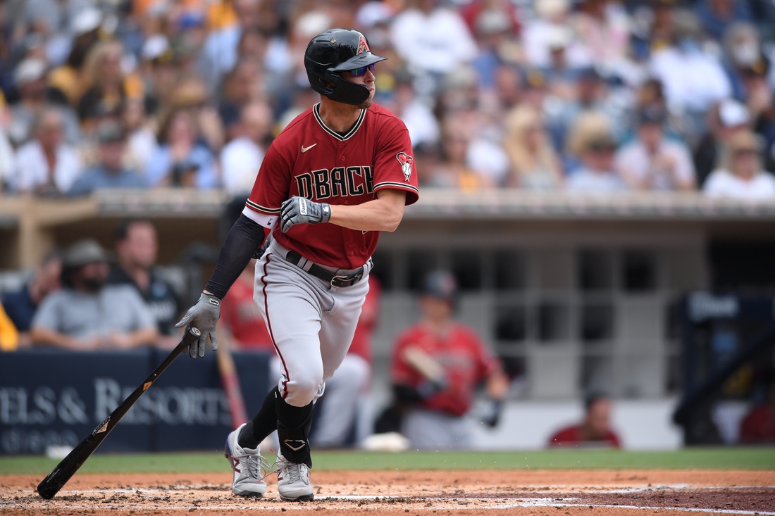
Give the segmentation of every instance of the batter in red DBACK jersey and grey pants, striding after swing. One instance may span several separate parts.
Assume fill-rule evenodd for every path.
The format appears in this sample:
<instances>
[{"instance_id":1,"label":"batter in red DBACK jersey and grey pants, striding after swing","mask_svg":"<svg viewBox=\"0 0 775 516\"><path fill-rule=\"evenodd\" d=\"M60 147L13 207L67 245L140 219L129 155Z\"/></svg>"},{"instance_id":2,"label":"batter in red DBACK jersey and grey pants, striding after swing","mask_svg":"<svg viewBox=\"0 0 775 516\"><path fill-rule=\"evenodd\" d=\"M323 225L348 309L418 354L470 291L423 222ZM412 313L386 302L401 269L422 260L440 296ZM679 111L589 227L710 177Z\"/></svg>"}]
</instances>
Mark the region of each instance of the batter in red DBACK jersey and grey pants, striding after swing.
<instances>
[{"instance_id":1,"label":"batter in red DBACK jersey and grey pants, striding after swing","mask_svg":"<svg viewBox=\"0 0 775 516\"><path fill-rule=\"evenodd\" d=\"M192 357L204 356L206 335L217 349L221 299L251 256L266 249L256 263L253 299L283 374L258 414L226 439L234 494L263 496L271 469L283 500L314 497L313 404L353 339L379 232L394 231L405 205L418 199L406 126L372 105L374 64L384 59L356 30L327 30L312 39L304 63L321 101L267 150L215 272L178 323L202 330ZM259 443L274 430L280 449L270 468Z\"/></svg>"}]
</instances>

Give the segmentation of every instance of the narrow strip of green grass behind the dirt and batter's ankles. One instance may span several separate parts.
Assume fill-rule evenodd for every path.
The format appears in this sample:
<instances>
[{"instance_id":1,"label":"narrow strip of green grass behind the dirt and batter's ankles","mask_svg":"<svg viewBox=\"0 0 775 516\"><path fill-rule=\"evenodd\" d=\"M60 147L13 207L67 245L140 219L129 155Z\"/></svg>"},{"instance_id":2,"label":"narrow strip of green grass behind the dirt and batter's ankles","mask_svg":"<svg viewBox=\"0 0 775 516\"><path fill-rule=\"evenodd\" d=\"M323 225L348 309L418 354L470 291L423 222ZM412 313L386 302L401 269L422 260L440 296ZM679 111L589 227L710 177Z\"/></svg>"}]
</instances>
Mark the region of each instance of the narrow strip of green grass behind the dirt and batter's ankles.
<instances>
[{"instance_id":1,"label":"narrow strip of green grass behind the dirt and batter's ankles","mask_svg":"<svg viewBox=\"0 0 775 516\"><path fill-rule=\"evenodd\" d=\"M274 459L271 457L271 459ZM700 448L675 452L546 450L537 452L313 452L323 470L775 470L775 448ZM45 457L2 457L0 475L46 474ZM95 455L83 473L229 471L219 452Z\"/></svg>"}]
</instances>

